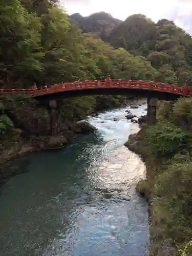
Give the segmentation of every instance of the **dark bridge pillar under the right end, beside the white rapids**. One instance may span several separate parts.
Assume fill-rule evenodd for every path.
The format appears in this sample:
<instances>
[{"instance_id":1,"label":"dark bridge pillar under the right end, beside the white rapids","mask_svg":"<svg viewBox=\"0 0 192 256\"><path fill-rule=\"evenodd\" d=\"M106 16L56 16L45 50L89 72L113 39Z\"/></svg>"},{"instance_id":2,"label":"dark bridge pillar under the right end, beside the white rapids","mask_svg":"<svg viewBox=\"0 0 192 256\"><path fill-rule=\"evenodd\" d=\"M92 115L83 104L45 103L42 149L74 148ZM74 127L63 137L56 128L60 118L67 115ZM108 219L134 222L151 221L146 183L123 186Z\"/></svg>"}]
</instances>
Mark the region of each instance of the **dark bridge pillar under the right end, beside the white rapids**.
<instances>
[{"instance_id":1,"label":"dark bridge pillar under the right end, beside the white rapids","mask_svg":"<svg viewBox=\"0 0 192 256\"><path fill-rule=\"evenodd\" d=\"M147 124L152 125L156 123L156 107L157 99L148 97L147 98Z\"/></svg>"}]
</instances>

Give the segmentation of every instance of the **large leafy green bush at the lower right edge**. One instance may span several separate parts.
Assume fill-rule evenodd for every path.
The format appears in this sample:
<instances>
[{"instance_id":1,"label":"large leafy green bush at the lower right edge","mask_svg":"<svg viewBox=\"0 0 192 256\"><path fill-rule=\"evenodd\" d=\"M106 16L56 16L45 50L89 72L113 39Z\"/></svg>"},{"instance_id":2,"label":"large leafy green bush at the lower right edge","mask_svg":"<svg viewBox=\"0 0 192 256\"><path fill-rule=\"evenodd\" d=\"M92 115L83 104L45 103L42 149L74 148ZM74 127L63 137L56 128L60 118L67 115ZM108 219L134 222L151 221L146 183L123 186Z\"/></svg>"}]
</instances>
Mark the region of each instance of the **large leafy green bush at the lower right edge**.
<instances>
[{"instance_id":1,"label":"large leafy green bush at the lower right edge","mask_svg":"<svg viewBox=\"0 0 192 256\"><path fill-rule=\"evenodd\" d=\"M166 238L182 244L192 236L192 162L173 163L156 179L155 194L161 197L156 215Z\"/></svg>"}]
</instances>

